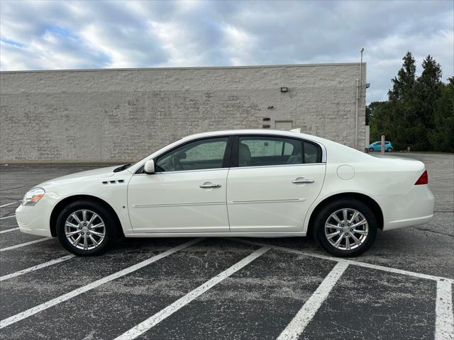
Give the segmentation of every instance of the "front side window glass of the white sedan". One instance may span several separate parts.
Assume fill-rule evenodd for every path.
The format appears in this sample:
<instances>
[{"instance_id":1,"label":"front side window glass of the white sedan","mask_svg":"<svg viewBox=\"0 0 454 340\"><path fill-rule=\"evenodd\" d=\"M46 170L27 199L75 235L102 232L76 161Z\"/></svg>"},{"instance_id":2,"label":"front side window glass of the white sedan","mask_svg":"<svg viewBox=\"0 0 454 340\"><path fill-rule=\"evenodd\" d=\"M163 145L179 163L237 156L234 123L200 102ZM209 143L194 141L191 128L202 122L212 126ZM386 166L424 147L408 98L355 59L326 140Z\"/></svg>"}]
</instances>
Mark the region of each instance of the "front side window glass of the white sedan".
<instances>
[{"instance_id":1,"label":"front side window glass of the white sedan","mask_svg":"<svg viewBox=\"0 0 454 340\"><path fill-rule=\"evenodd\" d=\"M158 157L157 172L220 169L223 167L228 137L189 142Z\"/></svg>"}]
</instances>

